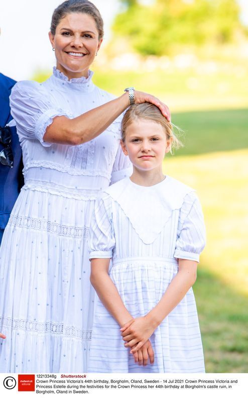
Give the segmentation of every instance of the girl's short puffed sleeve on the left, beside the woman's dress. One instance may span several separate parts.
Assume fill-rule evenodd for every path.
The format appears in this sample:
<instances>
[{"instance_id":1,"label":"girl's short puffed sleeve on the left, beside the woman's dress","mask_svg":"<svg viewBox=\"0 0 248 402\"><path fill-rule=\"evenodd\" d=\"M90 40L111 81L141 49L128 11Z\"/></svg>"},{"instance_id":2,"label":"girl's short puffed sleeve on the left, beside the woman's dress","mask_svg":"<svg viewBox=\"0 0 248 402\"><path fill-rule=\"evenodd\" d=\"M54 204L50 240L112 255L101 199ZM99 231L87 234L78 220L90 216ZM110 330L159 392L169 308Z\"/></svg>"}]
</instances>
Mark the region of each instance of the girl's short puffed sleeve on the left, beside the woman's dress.
<instances>
[{"instance_id":1,"label":"girl's short puffed sleeve on the left, beside the woman's dress","mask_svg":"<svg viewBox=\"0 0 248 402\"><path fill-rule=\"evenodd\" d=\"M111 258L114 246L111 198L105 194L95 202L88 238L89 258Z\"/></svg>"}]
</instances>

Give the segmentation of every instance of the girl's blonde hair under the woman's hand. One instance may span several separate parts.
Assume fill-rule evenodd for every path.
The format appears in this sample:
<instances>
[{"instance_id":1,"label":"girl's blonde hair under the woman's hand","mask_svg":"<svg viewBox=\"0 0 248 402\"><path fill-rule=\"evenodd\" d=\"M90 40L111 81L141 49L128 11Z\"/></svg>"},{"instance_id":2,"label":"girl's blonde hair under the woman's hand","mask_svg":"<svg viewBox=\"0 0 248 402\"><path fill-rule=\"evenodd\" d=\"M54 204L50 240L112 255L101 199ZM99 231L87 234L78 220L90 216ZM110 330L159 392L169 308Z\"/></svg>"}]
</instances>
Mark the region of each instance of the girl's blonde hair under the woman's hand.
<instances>
[{"instance_id":1,"label":"girl's blonde hair under the woman's hand","mask_svg":"<svg viewBox=\"0 0 248 402\"><path fill-rule=\"evenodd\" d=\"M168 122L168 120L166 120L166 118L162 115L157 106L150 104L148 102L139 105L137 104L132 105L126 111L120 126L122 142L125 142L127 128L130 126L130 124L132 124L135 120L138 119L152 120L155 123L161 124L161 126L165 130L167 139L170 140L171 153L173 149L178 149L183 145L181 141L176 137L173 131L173 128L178 129L178 127Z\"/></svg>"}]
</instances>

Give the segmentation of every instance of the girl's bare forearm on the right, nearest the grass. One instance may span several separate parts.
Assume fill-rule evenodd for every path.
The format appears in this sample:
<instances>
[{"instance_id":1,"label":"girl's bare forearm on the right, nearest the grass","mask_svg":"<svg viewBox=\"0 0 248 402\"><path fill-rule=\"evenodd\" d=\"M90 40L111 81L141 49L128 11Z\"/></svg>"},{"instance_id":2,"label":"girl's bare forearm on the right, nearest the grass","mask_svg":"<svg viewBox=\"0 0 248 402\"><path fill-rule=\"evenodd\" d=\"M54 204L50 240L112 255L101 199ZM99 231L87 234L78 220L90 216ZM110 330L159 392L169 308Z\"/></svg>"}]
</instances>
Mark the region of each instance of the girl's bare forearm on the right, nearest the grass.
<instances>
[{"instance_id":1,"label":"girl's bare forearm on the right, nearest the grass","mask_svg":"<svg viewBox=\"0 0 248 402\"><path fill-rule=\"evenodd\" d=\"M169 313L181 302L196 280L197 262L179 260L179 271L169 284L159 303L147 314L156 329Z\"/></svg>"}]
</instances>

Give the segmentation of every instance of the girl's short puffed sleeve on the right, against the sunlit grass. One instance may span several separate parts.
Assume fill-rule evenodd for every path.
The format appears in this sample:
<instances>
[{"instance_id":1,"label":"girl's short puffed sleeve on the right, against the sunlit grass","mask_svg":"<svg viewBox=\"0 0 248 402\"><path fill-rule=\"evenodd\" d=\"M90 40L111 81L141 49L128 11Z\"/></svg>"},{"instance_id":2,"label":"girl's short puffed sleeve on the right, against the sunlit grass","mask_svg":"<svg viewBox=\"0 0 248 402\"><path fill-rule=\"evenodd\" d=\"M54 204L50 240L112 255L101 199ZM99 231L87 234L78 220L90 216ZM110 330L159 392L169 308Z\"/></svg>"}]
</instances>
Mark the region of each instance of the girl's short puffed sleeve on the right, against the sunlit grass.
<instances>
[{"instance_id":1,"label":"girl's short puffed sleeve on the right, against the sunlit grass","mask_svg":"<svg viewBox=\"0 0 248 402\"><path fill-rule=\"evenodd\" d=\"M195 192L188 193L179 214L175 258L199 262L206 242L201 205Z\"/></svg>"}]
</instances>

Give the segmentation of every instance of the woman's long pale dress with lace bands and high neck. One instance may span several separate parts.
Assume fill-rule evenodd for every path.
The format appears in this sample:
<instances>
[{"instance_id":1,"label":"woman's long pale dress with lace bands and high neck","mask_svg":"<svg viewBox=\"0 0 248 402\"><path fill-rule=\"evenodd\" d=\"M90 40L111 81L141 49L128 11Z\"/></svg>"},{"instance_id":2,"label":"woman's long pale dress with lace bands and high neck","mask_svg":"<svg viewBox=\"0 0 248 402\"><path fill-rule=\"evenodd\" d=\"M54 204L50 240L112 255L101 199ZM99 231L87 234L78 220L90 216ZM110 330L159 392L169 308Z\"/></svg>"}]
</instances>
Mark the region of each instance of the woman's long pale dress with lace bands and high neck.
<instances>
[{"instance_id":1,"label":"woman's long pale dress with lace bands and high neck","mask_svg":"<svg viewBox=\"0 0 248 402\"><path fill-rule=\"evenodd\" d=\"M0 372L85 372L94 290L87 237L93 205L109 182L130 175L119 121L79 146L43 141L56 116L74 118L114 97L88 78L54 69L11 95L25 185L4 233L0 265Z\"/></svg>"}]
</instances>

